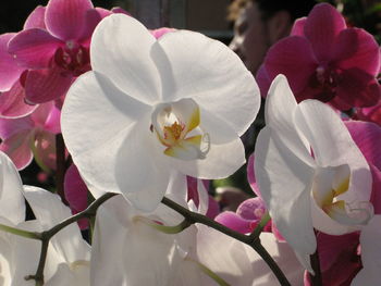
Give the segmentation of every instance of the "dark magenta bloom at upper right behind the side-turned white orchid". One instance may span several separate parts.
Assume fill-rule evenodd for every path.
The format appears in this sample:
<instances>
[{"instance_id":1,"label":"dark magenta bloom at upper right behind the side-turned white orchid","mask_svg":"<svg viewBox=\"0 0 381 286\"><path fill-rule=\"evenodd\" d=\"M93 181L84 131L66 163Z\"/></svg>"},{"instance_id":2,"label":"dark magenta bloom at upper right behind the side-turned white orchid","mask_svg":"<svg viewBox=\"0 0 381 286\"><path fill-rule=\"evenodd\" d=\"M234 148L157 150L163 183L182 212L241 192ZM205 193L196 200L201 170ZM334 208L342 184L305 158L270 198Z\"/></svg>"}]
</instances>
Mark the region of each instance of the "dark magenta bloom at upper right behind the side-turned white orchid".
<instances>
[{"instance_id":1,"label":"dark magenta bloom at upper right behind the side-turned white orchid","mask_svg":"<svg viewBox=\"0 0 381 286\"><path fill-rule=\"evenodd\" d=\"M332 5L321 3L307 18L296 21L290 37L270 48L257 78L262 96L269 83L284 74L298 102L312 98L347 110L379 101L379 71L380 52L373 37L348 28Z\"/></svg>"}]
</instances>

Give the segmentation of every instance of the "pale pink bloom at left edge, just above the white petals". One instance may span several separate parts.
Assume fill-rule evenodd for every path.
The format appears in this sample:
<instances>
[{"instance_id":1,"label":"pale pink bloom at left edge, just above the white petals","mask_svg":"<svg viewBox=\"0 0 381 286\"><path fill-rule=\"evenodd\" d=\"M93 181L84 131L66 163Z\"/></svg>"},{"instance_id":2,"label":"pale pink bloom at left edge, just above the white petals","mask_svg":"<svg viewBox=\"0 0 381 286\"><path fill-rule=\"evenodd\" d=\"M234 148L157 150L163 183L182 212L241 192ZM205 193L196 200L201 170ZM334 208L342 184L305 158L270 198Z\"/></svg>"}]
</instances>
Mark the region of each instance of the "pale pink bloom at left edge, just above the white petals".
<instances>
[{"instance_id":1,"label":"pale pink bloom at left edge, just above the white petals","mask_svg":"<svg viewBox=\"0 0 381 286\"><path fill-rule=\"evenodd\" d=\"M35 157L42 170L56 169L56 134L60 130L60 111L53 102L40 104L30 115L0 119L0 150L19 170Z\"/></svg>"}]
</instances>

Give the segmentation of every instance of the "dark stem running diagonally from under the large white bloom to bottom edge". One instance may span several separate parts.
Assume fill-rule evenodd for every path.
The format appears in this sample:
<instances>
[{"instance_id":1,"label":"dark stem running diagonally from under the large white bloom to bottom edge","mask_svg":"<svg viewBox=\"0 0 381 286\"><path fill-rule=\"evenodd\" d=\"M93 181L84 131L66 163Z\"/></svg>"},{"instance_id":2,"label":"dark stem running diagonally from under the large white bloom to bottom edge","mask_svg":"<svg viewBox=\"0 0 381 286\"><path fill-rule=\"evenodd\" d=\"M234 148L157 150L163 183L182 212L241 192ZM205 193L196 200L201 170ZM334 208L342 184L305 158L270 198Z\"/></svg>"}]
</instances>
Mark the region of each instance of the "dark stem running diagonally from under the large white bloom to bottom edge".
<instances>
[{"instance_id":1,"label":"dark stem running diagonally from under the large white bloom to bottom edge","mask_svg":"<svg viewBox=\"0 0 381 286\"><path fill-rule=\"evenodd\" d=\"M197 212L189 211L185 209L184 207L180 206L179 203L170 200L169 198L163 198L161 200L163 204L171 208L172 210L179 212L182 214L189 224L194 223L200 223L204 225L207 225L216 231L219 231L220 233L223 233L230 237L233 237L236 240L239 240L248 246L250 246L257 253L265 260L265 262L269 265L271 271L276 276L279 283L282 286L291 286L290 282L287 281L286 276L282 272L282 270L279 268L276 262L272 259L272 257L269 254L269 252L265 249L265 247L260 244L259 236L257 233L253 233L251 235L244 235L237 232L234 232L233 229L202 215Z\"/></svg>"}]
</instances>

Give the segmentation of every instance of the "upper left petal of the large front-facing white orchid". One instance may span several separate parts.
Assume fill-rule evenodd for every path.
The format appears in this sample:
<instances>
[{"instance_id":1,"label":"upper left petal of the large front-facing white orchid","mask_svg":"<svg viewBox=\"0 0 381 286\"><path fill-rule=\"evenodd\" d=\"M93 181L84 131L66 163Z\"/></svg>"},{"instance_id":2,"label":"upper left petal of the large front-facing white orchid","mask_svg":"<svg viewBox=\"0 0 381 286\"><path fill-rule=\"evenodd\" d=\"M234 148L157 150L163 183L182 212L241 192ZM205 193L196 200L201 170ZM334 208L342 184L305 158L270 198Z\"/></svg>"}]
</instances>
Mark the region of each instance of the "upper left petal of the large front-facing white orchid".
<instances>
[{"instance_id":1,"label":"upper left petal of the large front-facing white orchid","mask_svg":"<svg viewBox=\"0 0 381 286\"><path fill-rule=\"evenodd\" d=\"M151 59L155 37L132 16L113 14L95 29L90 59L94 71L146 103L161 98L160 76Z\"/></svg>"}]
</instances>

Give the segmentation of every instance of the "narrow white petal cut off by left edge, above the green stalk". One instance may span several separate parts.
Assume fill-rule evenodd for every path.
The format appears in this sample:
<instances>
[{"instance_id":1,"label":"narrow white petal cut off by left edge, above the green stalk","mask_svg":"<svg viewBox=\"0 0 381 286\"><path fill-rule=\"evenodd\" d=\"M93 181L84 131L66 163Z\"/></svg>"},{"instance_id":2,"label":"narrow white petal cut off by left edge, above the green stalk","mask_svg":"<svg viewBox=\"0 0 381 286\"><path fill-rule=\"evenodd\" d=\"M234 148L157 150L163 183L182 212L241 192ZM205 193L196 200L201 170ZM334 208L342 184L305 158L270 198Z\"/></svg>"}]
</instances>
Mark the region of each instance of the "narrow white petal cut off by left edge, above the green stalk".
<instances>
[{"instance_id":1,"label":"narrow white petal cut off by left edge, above the green stalk","mask_svg":"<svg viewBox=\"0 0 381 286\"><path fill-rule=\"evenodd\" d=\"M23 184L17 169L3 152L0 152L0 216L13 224L25 219Z\"/></svg>"}]
</instances>

